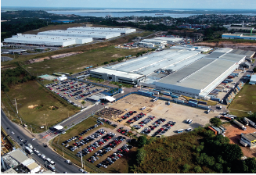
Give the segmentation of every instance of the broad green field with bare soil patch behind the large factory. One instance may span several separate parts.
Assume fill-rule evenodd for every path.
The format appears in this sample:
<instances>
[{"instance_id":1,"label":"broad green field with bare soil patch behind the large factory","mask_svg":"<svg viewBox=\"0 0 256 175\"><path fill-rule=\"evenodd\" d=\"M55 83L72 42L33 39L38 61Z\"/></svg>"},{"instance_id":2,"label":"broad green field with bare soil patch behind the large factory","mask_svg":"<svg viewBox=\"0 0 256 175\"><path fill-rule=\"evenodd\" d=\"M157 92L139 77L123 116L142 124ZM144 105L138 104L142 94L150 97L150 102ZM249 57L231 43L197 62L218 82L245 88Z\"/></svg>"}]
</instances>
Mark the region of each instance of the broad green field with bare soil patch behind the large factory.
<instances>
[{"instance_id":1,"label":"broad green field with bare soil patch behind the large factory","mask_svg":"<svg viewBox=\"0 0 256 175\"><path fill-rule=\"evenodd\" d=\"M146 48L133 48L131 50L123 48L114 48L108 46L104 48L92 49L88 52L78 55L72 55L62 59L50 59L44 62L38 62L25 65L25 69L34 75L43 73L67 72L77 73L85 69L87 66L102 65L103 62L110 62L112 59L118 59L127 55L135 55L137 52L146 51Z\"/></svg>"}]
</instances>

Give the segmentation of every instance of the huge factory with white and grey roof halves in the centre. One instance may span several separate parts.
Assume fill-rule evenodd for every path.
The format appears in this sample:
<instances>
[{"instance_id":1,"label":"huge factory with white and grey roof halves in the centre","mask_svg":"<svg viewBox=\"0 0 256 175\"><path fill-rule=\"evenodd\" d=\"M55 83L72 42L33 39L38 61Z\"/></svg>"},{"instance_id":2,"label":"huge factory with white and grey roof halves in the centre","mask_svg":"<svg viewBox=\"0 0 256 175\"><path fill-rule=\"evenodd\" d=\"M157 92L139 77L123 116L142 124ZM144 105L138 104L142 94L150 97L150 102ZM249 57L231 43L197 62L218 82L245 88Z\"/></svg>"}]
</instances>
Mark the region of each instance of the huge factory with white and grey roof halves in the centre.
<instances>
[{"instance_id":1,"label":"huge factory with white and grey roof halves in the centre","mask_svg":"<svg viewBox=\"0 0 256 175\"><path fill-rule=\"evenodd\" d=\"M175 46L91 70L91 76L204 99L245 61L247 55L231 52L232 48L219 48L206 55L200 49Z\"/></svg>"}]
</instances>

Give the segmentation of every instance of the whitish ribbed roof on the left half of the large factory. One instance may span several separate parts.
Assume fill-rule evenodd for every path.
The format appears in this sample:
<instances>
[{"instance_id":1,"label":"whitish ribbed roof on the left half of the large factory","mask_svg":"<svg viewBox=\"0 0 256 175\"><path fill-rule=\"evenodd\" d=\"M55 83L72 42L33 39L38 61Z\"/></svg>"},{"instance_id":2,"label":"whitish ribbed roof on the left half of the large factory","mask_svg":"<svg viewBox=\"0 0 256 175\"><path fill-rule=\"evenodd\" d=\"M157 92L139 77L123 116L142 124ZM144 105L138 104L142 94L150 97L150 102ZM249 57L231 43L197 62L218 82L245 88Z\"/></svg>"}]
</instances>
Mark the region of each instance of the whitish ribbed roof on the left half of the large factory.
<instances>
[{"instance_id":1,"label":"whitish ribbed roof on the left half of the large factory","mask_svg":"<svg viewBox=\"0 0 256 175\"><path fill-rule=\"evenodd\" d=\"M113 66L108 66L107 68L149 75L159 69L179 70L183 66L189 65L202 57L204 55L200 54L200 52L188 51L184 47L170 48L161 52L150 53L138 59L131 59Z\"/></svg>"}]
</instances>

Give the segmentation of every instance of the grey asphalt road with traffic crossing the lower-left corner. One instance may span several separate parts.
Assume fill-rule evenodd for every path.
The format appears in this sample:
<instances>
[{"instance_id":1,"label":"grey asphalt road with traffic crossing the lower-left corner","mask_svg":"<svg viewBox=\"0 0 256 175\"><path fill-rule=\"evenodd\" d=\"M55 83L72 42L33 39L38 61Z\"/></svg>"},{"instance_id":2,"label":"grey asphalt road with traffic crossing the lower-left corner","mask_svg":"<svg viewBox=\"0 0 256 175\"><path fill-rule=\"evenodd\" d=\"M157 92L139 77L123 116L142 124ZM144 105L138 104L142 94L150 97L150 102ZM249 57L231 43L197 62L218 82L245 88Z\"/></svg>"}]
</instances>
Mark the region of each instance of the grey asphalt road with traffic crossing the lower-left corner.
<instances>
[{"instance_id":1,"label":"grey asphalt road with traffic crossing the lower-left corner","mask_svg":"<svg viewBox=\"0 0 256 175\"><path fill-rule=\"evenodd\" d=\"M1 109L1 126L6 130L6 132L13 137L13 140L15 140L17 143L22 143L18 140L17 136L20 136L23 138L23 140L28 140L28 143L31 143L33 145L33 148L36 148L41 154L44 154L47 158L52 159L56 163L56 173L81 173L77 166L74 165L68 165L61 156L57 155L55 152L52 152L50 148L45 148L43 145L38 141L34 140L32 141L33 136L27 132L27 130L24 130L22 127L16 125L16 123L12 123L7 116L5 116L5 113ZM9 127L10 129L7 130L6 128ZM15 134L11 134L11 131L13 131ZM36 160L37 162L40 162L42 166L45 166L45 161L41 159L38 155L31 155L31 157Z\"/></svg>"}]
</instances>

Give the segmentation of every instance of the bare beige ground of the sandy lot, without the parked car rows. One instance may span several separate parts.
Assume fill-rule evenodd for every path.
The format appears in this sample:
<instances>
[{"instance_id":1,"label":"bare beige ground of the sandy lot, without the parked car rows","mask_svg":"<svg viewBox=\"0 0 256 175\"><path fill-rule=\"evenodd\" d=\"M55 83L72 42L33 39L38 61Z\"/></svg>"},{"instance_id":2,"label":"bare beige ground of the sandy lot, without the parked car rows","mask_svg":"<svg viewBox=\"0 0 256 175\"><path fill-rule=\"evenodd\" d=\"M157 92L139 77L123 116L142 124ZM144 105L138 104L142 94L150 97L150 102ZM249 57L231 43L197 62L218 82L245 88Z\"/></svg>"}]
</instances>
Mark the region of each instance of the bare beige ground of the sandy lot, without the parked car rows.
<instances>
[{"instance_id":1,"label":"bare beige ground of the sandy lot, without the parked car rows","mask_svg":"<svg viewBox=\"0 0 256 175\"><path fill-rule=\"evenodd\" d=\"M187 128L195 128L195 127L204 127L212 117L218 116L218 112L210 112L210 114L206 114L202 109L196 109L193 107L189 107L186 105L178 105L175 103L171 103L171 105L167 105L166 101L157 100L157 102L151 102L152 98L144 97L141 95L128 95L127 97L115 102L110 107L115 109L127 110L127 111L137 111L146 113L146 116L142 117L139 121L132 123L131 126L138 124L143 119L146 119L147 116L155 116L150 123L147 123L144 127L138 130L141 132L145 127L152 125L154 121L159 118L164 118L166 121L160 126L168 123L168 121L175 121L176 124L174 127L171 127L171 130L168 130L165 136L171 136L176 134L176 130L187 129ZM141 110L143 106L146 106L145 110ZM124 112L126 113L126 112ZM124 113L122 115L124 115ZM121 115L121 116L122 116ZM117 121L121 119L121 116L113 116L111 120ZM135 116L135 114L133 115ZM121 124L128 125L126 123L127 120L132 119L133 116L130 116L128 119L121 121ZM105 116L106 117L106 116ZM193 123L187 124L186 120L191 119ZM153 132L157 131L159 128L157 127Z\"/></svg>"}]
</instances>

